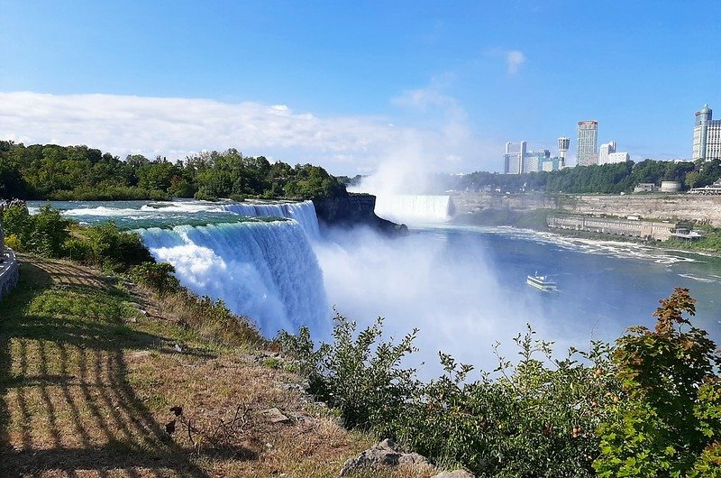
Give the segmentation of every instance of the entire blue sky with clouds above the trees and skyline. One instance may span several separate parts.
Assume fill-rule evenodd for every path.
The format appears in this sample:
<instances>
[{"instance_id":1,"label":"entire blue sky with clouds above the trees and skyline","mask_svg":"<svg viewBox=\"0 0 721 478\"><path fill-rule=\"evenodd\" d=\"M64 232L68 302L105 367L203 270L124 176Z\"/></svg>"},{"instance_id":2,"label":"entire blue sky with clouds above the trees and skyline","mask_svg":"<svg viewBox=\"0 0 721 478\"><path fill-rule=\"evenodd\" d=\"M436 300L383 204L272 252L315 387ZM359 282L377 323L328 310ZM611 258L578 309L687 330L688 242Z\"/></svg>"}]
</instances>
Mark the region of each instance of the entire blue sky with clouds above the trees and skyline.
<instances>
[{"instance_id":1,"label":"entire blue sky with clouds above the trees and skyline","mask_svg":"<svg viewBox=\"0 0 721 478\"><path fill-rule=\"evenodd\" d=\"M500 171L576 124L689 159L721 117L721 2L0 0L0 139L335 175ZM573 163L571 159L570 163Z\"/></svg>"}]
</instances>

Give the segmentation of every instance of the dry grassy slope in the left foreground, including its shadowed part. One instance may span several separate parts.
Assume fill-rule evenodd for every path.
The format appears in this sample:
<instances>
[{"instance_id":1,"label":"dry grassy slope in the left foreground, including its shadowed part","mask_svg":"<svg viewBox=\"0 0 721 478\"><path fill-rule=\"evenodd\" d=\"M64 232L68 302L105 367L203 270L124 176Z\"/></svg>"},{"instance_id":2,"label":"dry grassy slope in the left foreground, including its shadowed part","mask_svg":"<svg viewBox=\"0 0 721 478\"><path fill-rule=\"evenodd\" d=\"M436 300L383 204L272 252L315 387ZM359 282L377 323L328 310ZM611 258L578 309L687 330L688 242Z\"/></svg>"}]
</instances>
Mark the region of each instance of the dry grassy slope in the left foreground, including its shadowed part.
<instances>
[{"instance_id":1,"label":"dry grassy slope in the left foreground, including its shadowed part","mask_svg":"<svg viewBox=\"0 0 721 478\"><path fill-rule=\"evenodd\" d=\"M375 441L284 387L296 378L257 351L201 339L135 288L21 259L20 284L0 302L0 476L330 477ZM173 405L195 445L179 423L166 432ZM271 407L292 421L271 423L260 413Z\"/></svg>"}]
</instances>

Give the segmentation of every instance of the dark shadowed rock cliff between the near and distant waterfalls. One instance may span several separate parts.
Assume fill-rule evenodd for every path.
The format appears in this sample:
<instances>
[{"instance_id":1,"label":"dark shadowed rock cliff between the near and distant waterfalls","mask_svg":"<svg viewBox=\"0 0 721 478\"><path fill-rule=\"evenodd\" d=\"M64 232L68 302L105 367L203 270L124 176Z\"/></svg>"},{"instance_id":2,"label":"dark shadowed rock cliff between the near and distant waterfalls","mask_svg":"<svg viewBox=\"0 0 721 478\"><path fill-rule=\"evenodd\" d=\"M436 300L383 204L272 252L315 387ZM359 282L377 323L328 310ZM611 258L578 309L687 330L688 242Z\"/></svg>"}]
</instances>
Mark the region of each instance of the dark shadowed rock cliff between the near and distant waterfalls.
<instances>
[{"instance_id":1,"label":"dark shadowed rock cliff between the near and distant waterfalls","mask_svg":"<svg viewBox=\"0 0 721 478\"><path fill-rule=\"evenodd\" d=\"M406 225L397 225L374 212L376 197L370 194L349 194L344 198L314 200L315 216L323 227L369 225L388 235L407 234Z\"/></svg>"}]
</instances>

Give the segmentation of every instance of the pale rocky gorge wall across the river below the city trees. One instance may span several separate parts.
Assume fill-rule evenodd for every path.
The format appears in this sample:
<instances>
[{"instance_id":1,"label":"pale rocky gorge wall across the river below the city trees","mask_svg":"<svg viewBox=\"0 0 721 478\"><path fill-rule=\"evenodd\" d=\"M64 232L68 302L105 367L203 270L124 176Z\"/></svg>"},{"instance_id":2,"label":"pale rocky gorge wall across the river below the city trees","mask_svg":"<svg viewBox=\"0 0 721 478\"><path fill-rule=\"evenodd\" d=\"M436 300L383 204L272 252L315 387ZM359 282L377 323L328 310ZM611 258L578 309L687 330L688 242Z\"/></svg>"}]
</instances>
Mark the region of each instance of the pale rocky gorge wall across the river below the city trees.
<instances>
[{"instance_id":1,"label":"pale rocky gorge wall across the river below the city trees","mask_svg":"<svg viewBox=\"0 0 721 478\"><path fill-rule=\"evenodd\" d=\"M721 227L721 196L688 194L556 195L457 193L452 196L456 216L484 209L558 209L576 214L692 219Z\"/></svg>"}]
</instances>

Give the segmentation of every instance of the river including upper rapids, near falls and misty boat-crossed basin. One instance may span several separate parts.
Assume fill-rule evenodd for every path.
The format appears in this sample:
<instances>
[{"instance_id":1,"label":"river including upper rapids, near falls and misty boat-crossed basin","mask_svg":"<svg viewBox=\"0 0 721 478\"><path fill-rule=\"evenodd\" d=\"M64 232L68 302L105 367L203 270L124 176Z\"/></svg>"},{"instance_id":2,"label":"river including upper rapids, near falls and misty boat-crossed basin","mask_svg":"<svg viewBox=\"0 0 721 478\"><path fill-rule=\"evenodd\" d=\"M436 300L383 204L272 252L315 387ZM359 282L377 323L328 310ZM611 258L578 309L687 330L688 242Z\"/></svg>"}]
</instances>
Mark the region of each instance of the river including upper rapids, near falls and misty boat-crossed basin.
<instances>
[{"instance_id":1,"label":"river including upper rapids, near falls and misty boat-crossed basin","mask_svg":"<svg viewBox=\"0 0 721 478\"><path fill-rule=\"evenodd\" d=\"M446 223L411 225L411 234L397 239L365 228L317 234L312 203L305 204L295 216L283 213L289 220L282 227L268 218L249 225L252 234L218 225L265 213L212 203L53 206L83 223L110 218L138 231L157 258L176 265L184 285L224 299L266 336L279 327L308 325L315 336L327 338L332 306L360 326L386 317L390 336L418 327L421 352L414 363L430 372L437 370L439 350L494 368L492 345L500 343L500 352L512 358L513 337L526 323L539 338L555 341L559 353L569 346L588 348L590 340L613 341L627 326L653 327L659 299L675 287L688 288L698 299L694 325L721 343L719 258ZM257 250L246 251L243 241L253 241ZM306 241L308 247L287 241ZM559 291L526 285L526 276L536 271L556 280Z\"/></svg>"}]
</instances>

